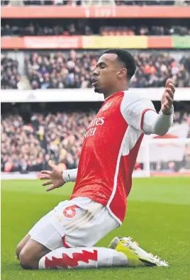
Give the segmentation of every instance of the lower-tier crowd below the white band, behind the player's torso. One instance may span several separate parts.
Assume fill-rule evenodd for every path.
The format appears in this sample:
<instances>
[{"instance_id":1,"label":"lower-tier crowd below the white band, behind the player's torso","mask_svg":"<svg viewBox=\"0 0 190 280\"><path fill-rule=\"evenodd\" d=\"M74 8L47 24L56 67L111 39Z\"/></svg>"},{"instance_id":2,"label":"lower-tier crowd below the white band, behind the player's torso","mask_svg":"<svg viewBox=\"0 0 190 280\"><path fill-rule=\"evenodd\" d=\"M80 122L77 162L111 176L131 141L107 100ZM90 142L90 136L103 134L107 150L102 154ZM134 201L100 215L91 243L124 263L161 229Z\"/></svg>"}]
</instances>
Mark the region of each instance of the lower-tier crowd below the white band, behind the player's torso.
<instances>
[{"instance_id":1,"label":"lower-tier crowd below the white band, behind the player's torso","mask_svg":"<svg viewBox=\"0 0 190 280\"><path fill-rule=\"evenodd\" d=\"M30 123L19 115L1 116L1 171L40 171L48 169L49 159L65 169L76 168L84 133L95 115L96 111L34 113ZM190 128L190 113L174 113L174 123L184 121Z\"/></svg>"}]
</instances>

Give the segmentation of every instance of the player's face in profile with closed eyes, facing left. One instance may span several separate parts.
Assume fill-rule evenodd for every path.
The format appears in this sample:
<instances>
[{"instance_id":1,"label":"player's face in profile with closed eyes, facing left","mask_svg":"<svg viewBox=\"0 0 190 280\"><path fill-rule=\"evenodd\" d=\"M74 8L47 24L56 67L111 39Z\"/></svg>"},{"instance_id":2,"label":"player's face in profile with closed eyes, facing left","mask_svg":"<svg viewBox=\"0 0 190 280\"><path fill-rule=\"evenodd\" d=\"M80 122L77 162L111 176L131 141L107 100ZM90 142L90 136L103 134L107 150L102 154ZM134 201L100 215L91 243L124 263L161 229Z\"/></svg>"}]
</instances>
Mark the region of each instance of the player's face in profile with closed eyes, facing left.
<instances>
[{"instance_id":1,"label":"player's face in profile with closed eyes, facing left","mask_svg":"<svg viewBox=\"0 0 190 280\"><path fill-rule=\"evenodd\" d=\"M106 53L99 58L93 72L94 91L104 94L114 89L118 80L117 55Z\"/></svg>"}]
</instances>

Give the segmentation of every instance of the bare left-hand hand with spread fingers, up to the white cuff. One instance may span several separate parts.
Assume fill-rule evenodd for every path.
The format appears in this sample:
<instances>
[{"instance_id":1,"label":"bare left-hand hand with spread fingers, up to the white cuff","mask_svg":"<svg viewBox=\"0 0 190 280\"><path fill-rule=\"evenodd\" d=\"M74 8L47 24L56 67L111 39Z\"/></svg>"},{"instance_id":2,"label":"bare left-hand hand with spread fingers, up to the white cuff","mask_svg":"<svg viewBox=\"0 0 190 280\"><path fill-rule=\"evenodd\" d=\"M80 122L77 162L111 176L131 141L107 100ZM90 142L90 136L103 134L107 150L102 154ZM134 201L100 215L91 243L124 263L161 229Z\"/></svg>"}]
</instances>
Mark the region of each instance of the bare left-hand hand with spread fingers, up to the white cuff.
<instances>
[{"instance_id":1,"label":"bare left-hand hand with spread fingers, up to the white cuff","mask_svg":"<svg viewBox=\"0 0 190 280\"><path fill-rule=\"evenodd\" d=\"M51 160L48 162L48 165L52 168L52 171L41 171L40 180L49 180L45 181L45 183L43 183L43 186L52 185L46 189L46 191L52 191L52 189L57 189L60 188L60 186L63 186L65 184L65 181L62 179L62 171L59 167L57 167L57 165L52 164Z\"/></svg>"}]
</instances>

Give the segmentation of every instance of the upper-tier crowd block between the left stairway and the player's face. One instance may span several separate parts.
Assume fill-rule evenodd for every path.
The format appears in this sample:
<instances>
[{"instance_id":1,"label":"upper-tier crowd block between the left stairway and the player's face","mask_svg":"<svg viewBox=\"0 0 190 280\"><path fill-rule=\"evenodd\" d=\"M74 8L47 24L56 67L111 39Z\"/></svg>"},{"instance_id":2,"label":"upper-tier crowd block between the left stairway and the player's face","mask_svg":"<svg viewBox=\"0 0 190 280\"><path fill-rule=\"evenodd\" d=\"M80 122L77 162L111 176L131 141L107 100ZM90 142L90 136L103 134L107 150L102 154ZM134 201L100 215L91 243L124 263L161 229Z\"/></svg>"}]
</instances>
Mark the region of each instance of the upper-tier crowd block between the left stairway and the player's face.
<instances>
[{"instance_id":1,"label":"upper-tier crowd block between the left stairway and the player's face","mask_svg":"<svg viewBox=\"0 0 190 280\"><path fill-rule=\"evenodd\" d=\"M26 71L32 89L89 88L98 58L98 52L34 52L26 57Z\"/></svg>"}]
</instances>

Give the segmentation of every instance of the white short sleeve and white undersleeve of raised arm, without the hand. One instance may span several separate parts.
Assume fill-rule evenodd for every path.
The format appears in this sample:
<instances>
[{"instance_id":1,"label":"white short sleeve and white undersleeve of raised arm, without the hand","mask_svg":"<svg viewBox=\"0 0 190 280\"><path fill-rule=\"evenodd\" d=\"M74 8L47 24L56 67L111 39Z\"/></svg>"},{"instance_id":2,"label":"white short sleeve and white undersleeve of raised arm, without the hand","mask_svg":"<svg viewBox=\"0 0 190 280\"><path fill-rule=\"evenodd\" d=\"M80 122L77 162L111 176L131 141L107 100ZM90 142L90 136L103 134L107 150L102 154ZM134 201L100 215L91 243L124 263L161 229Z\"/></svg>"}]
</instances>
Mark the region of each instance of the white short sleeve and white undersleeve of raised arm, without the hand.
<instances>
[{"instance_id":1,"label":"white short sleeve and white undersleeve of raised arm, without the hand","mask_svg":"<svg viewBox=\"0 0 190 280\"><path fill-rule=\"evenodd\" d=\"M158 114L152 101L143 99L131 91L124 91L121 113L128 125L148 135L166 134L173 122L173 113L164 115L160 111Z\"/></svg>"}]
</instances>

